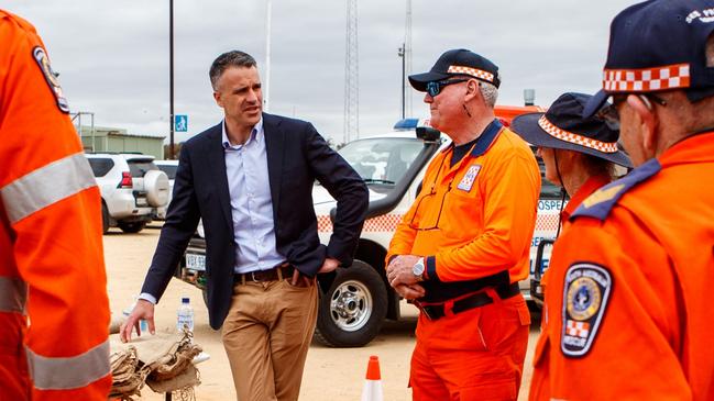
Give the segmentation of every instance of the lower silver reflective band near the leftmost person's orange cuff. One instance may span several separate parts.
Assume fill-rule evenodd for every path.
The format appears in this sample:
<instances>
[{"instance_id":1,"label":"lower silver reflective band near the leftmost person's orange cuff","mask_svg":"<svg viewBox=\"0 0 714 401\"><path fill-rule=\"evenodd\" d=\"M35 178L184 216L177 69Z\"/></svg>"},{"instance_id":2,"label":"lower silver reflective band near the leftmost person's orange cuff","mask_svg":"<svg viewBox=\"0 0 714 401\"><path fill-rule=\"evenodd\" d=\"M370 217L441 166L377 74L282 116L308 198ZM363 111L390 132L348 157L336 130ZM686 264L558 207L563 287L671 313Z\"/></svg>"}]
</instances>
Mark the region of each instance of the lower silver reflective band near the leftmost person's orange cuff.
<instances>
[{"instance_id":1,"label":"lower silver reflective band near the leftmost person's orange cuff","mask_svg":"<svg viewBox=\"0 0 714 401\"><path fill-rule=\"evenodd\" d=\"M62 344L62 338L56 338ZM40 356L25 347L33 385L39 390L86 387L109 375L109 339L72 358Z\"/></svg>"}]
</instances>

